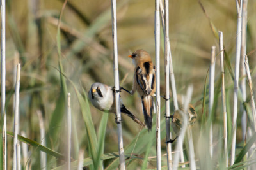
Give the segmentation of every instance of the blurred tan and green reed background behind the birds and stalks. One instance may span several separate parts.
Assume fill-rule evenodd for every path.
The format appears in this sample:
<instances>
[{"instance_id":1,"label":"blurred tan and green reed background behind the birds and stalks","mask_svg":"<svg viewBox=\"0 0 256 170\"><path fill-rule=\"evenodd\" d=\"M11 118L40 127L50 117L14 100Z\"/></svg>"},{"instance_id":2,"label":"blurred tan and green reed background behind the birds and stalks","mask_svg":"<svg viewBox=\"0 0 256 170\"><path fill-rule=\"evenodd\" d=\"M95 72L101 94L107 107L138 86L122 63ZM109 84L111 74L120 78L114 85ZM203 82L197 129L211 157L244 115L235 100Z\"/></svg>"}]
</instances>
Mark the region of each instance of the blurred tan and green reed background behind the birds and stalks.
<instances>
[{"instance_id":1,"label":"blurred tan and green reed background behind the birds and stalks","mask_svg":"<svg viewBox=\"0 0 256 170\"><path fill-rule=\"evenodd\" d=\"M65 83L71 94L72 106L72 152L71 157L78 159L79 149L84 150L84 158L90 157L90 146L81 103L76 96L74 86L86 98L90 86L95 81L113 85L113 51L111 34L111 1L103 0L74 0L68 1L60 23L60 42L56 39L58 17L64 0L28 0L6 1L6 118L7 131L13 132L13 77L17 57L21 62L20 77L20 131L26 133L27 138L40 143L40 127L38 111L42 113L45 126L46 146L65 155L66 135L65 120L66 92L61 83L59 63L63 65L63 74L67 77ZM233 81L230 70L226 65L231 64L234 69L236 51L236 20L237 11L234 0L211 1L202 0L204 10L198 1L183 0L169 2L170 43L172 50L173 71L175 74L178 97L186 93L189 84L193 84L194 91L191 103L198 113L198 120L193 127L196 160L204 154L198 139L202 121L202 103L204 98L205 81L208 85L207 71L210 66L211 46L218 49L218 39L212 32L209 21L215 25L216 31L223 31L225 51L230 61L225 62L225 85L227 92L228 134L231 134L231 113L233 99ZM252 83L255 84L255 46L256 46L256 1L248 1L247 27L247 55L252 71ZM118 33L118 62L120 85L125 89L132 88L133 69L131 59L127 58L134 50L144 49L150 53L154 61L154 1L117 1L117 33ZM57 43L61 45L61 58L58 58ZM218 54L218 50L216 52ZM155 63L155 62L154 62ZM214 94L214 143L219 147L221 133L218 128L223 124L220 84L220 57L216 55ZM70 83L72 81L74 85ZM161 29L161 94L164 95L164 36ZM255 90L255 89L253 89ZM248 92L248 96L250 93ZM143 120L141 101L138 94L129 96L122 92L122 100L129 110ZM206 95L208 104L208 93ZM84 100L86 101L86 100ZM171 98L171 113L173 103ZM242 102L240 101L239 104ZM244 103L250 108L250 101ZM164 141L164 101L161 103L161 141L162 154L166 153ZM90 108L88 108L90 106ZM93 108L92 104L84 103L90 109L95 132L100 129L102 111ZM205 111L208 113L207 106ZM241 131L242 105L239 105L237 116L237 152L243 148ZM122 116L123 139L125 153L128 157L132 150L135 156L127 169L143 166L146 153L149 163L147 168L156 167L156 150L154 147L154 131L148 134L147 129L140 132L140 126L130 118ZM153 119L155 123L155 118ZM154 129L154 127L153 127ZM88 129L90 131L90 129ZM138 137L138 135L140 135ZM138 137L136 146L134 143ZM99 138L99 137L98 137ZM148 143L152 139L152 143ZM12 168L13 138L8 136L8 169ZM172 144L173 146L175 144ZM199 147L198 147L199 146ZM128 147L128 148L127 148ZM40 169L40 150L29 146L29 161L31 169ZM104 153L118 152L115 115L109 114L104 143ZM185 151L186 152L186 151ZM212 162L218 160L218 152ZM166 167L163 157L162 166ZM147 161L147 160L146 160ZM25 161L26 162L26 161ZM58 167L63 160L47 155L47 169ZM221 163L220 163L221 164ZM218 164L218 166L220 166ZM198 163L198 166L200 164ZM216 164L211 164L216 167ZM22 167L25 165L22 164ZM104 160L104 167L113 169L118 166L116 158ZM91 166L92 168L92 166Z\"/></svg>"}]
</instances>

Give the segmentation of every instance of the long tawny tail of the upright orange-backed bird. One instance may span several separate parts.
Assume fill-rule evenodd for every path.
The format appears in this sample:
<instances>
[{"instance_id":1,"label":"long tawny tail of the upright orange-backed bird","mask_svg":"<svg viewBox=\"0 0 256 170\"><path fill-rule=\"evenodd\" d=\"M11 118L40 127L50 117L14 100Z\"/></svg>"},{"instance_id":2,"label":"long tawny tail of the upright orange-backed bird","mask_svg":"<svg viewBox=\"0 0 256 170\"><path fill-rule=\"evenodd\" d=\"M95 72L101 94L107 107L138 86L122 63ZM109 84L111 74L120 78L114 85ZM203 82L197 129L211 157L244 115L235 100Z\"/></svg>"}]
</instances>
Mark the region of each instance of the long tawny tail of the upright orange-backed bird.
<instances>
[{"instance_id":1,"label":"long tawny tail of the upright orange-backed bird","mask_svg":"<svg viewBox=\"0 0 256 170\"><path fill-rule=\"evenodd\" d=\"M142 101L145 124L148 127L148 131L150 131L152 128L152 113L154 110L154 98L153 96L142 96L141 101Z\"/></svg>"}]
</instances>

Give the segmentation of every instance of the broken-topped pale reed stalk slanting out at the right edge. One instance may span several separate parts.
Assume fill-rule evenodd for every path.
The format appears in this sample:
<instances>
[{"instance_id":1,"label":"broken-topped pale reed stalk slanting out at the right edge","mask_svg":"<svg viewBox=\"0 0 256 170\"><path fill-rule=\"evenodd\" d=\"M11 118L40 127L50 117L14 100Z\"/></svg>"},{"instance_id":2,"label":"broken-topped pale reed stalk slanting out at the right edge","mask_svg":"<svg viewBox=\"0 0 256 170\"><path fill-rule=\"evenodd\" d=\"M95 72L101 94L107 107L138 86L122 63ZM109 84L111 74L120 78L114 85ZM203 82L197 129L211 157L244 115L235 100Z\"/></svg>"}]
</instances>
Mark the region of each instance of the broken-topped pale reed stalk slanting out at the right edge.
<instances>
[{"instance_id":1,"label":"broken-topped pale reed stalk slanting out at the right edge","mask_svg":"<svg viewBox=\"0 0 256 170\"><path fill-rule=\"evenodd\" d=\"M254 123L254 131L256 131L256 110L255 110L255 101L254 101L254 96L253 96L253 89L252 89L252 77L250 73L250 68L249 68L249 63L248 63L248 58L247 55L244 55L244 66L246 70L246 75L249 83L249 88L250 88L250 94L251 94L251 107L252 107L252 115L253 115L253 123Z\"/></svg>"}]
</instances>

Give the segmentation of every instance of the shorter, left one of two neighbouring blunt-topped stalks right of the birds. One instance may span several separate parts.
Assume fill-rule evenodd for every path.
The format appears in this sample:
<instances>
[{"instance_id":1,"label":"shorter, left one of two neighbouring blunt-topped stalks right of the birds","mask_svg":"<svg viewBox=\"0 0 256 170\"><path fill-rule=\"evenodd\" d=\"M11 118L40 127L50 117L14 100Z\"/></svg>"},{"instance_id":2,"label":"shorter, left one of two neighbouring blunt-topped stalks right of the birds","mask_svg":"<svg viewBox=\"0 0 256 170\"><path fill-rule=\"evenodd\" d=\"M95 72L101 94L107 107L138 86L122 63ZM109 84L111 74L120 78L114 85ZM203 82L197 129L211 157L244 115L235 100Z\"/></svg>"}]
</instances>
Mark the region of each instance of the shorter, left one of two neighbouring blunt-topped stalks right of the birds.
<instances>
[{"instance_id":1,"label":"shorter, left one of two neighbouring blunt-topped stalks right of the birds","mask_svg":"<svg viewBox=\"0 0 256 170\"><path fill-rule=\"evenodd\" d=\"M212 46L211 66L210 66L210 76L209 76L209 117L210 118L212 117L212 105L213 105L213 101L214 101L215 52L216 52L216 47ZM212 122L210 125L209 140L210 140L210 155L212 157L212 153L213 153Z\"/></svg>"}]
</instances>

